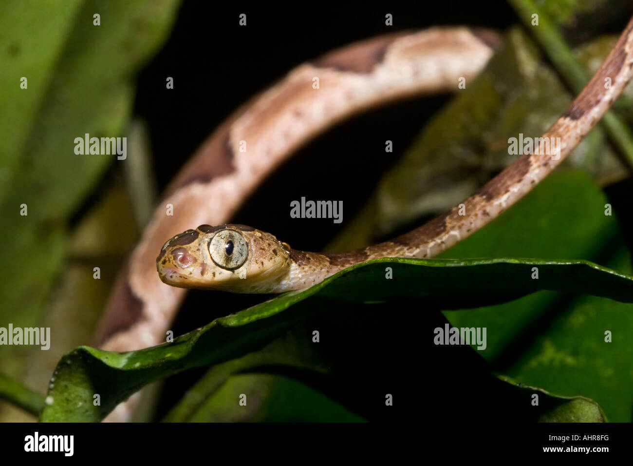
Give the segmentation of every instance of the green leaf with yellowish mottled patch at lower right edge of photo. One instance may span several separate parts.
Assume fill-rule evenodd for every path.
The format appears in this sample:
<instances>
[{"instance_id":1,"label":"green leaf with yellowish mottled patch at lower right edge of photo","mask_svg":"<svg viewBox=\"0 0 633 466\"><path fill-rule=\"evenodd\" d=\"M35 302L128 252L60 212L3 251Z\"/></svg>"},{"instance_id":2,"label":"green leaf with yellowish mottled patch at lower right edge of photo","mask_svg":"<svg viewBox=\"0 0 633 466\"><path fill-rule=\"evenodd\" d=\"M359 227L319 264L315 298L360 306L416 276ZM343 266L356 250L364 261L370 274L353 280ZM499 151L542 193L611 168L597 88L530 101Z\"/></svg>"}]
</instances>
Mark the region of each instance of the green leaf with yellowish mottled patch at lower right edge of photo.
<instances>
[{"instance_id":1,"label":"green leaf with yellowish mottled patch at lower right edge of photo","mask_svg":"<svg viewBox=\"0 0 633 466\"><path fill-rule=\"evenodd\" d=\"M622 245L608 261L627 268ZM602 406L613 422L631 422L633 400L633 306L579 296L553 313L504 372L525 384L565 395L582 394ZM469 311L464 311L467 313ZM611 332L607 342L606 332Z\"/></svg>"}]
</instances>

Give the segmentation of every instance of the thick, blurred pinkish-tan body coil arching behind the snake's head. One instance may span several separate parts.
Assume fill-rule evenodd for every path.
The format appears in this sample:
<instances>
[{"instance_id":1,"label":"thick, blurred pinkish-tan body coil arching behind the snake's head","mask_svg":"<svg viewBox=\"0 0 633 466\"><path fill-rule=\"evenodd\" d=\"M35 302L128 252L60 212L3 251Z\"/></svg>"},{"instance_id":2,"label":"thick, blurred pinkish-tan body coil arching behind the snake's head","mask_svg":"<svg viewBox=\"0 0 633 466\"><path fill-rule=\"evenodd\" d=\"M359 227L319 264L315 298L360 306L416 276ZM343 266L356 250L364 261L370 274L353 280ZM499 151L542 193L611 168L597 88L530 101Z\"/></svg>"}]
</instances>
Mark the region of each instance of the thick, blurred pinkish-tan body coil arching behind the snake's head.
<instances>
[{"instance_id":1,"label":"thick, blurred pinkish-tan body coil arching behind the snake's head","mask_svg":"<svg viewBox=\"0 0 633 466\"><path fill-rule=\"evenodd\" d=\"M166 238L229 221L269 172L339 120L408 96L456 91L460 78L479 73L498 41L491 30L467 27L380 36L303 63L242 105L166 188L116 280L94 344L129 351L162 342L184 297L156 274ZM166 215L168 205L173 216Z\"/></svg>"}]
</instances>

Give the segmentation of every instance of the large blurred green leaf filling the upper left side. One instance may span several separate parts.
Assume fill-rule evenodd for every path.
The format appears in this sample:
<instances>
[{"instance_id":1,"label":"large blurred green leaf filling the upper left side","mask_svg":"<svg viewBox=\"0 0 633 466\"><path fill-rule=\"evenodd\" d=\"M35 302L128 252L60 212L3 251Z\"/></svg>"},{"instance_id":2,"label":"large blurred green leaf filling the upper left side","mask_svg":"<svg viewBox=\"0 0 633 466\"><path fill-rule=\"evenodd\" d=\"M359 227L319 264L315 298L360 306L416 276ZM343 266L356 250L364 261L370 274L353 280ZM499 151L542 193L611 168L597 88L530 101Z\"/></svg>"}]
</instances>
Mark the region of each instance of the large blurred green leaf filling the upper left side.
<instances>
[{"instance_id":1,"label":"large blurred green leaf filling the upper left side","mask_svg":"<svg viewBox=\"0 0 633 466\"><path fill-rule=\"evenodd\" d=\"M65 266L68 218L111 162L125 163L116 155L77 155L74 140L85 133L125 136L134 74L166 38L178 6L171 0L0 5L0 46L6 45L0 134L12 135L3 141L8 152L0 170L0 236L11 241L0 252L7 264L0 280L1 326L39 322ZM96 13L101 25L93 24ZM22 75L27 89L19 87ZM27 353L5 348L2 370L22 377Z\"/></svg>"}]
</instances>

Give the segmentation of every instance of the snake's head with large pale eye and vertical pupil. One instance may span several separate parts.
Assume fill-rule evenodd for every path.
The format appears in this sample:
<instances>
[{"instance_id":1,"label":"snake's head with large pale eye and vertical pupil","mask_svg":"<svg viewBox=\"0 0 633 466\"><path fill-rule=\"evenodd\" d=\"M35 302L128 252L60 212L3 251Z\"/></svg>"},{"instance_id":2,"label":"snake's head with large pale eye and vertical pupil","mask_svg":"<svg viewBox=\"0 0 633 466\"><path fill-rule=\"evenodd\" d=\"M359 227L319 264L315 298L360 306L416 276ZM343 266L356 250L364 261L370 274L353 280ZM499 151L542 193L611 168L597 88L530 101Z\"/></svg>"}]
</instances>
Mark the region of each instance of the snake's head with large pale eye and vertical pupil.
<instances>
[{"instance_id":1,"label":"snake's head with large pale eye and vertical pupil","mask_svg":"<svg viewBox=\"0 0 633 466\"><path fill-rule=\"evenodd\" d=\"M246 225L200 225L163 245L156 269L163 283L240 293L270 292L290 266L290 247Z\"/></svg>"}]
</instances>

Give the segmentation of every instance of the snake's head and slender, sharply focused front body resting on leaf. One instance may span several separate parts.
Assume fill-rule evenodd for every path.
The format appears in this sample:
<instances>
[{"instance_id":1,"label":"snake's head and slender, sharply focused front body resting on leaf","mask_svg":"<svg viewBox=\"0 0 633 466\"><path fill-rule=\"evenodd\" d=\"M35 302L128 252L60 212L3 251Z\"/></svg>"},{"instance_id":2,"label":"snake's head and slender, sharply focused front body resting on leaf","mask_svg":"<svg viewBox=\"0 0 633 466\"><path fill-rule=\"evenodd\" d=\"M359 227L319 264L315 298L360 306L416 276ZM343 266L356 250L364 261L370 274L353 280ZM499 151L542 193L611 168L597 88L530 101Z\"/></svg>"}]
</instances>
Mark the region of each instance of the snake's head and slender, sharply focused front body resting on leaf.
<instances>
[{"instance_id":1,"label":"snake's head and slender, sharply focused front body resting on leaf","mask_svg":"<svg viewBox=\"0 0 633 466\"><path fill-rule=\"evenodd\" d=\"M248 226L201 225L163 245L156 259L161 280L184 288L280 293L310 287L337 271L378 257L436 256L522 198L595 126L631 78L632 25L633 20L582 93L542 135L548 144L523 153L442 216L390 241L338 254L294 250L270 233ZM605 86L609 79L612 86Z\"/></svg>"}]
</instances>

